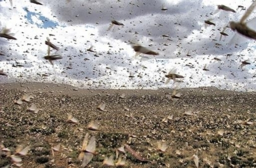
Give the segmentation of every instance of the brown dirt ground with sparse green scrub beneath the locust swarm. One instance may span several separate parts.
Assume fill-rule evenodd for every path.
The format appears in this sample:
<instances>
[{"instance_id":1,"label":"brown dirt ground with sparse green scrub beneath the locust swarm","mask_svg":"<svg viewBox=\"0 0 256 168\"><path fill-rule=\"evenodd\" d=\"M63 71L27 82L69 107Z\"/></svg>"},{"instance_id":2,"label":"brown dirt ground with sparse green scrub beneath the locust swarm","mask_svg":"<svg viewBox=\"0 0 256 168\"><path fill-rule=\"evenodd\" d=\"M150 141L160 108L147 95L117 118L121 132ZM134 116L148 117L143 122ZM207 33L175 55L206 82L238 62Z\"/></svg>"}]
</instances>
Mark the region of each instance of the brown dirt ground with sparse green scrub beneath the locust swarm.
<instances>
[{"instance_id":1,"label":"brown dirt ground with sparse green scrub beneath the locust swarm","mask_svg":"<svg viewBox=\"0 0 256 168\"><path fill-rule=\"evenodd\" d=\"M0 84L0 144L21 156L23 168L81 167L77 158L87 132L96 137L96 152L87 167L100 167L105 156L128 144L152 162L126 152L124 167L256 167L256 93L216 88L179 89L181 97L160 90L86 90L53 83ZM29 102L15 104L25 94ZM98 110L105 103L105 111ZM38 113L27 111L35 104ZM67 113L78 120L67 123ZM186 114L185 114L186 113ZM90 122L99 124L90 131ZM129 137L134 137L128 142ZM130 138L131 139L131 138ZM167 143L166 151L158 143ZM61 143L52 155L51 147ZM11 164L0 152L0 167ZM194 156L193 156L194 155ZM115 158L115 157L114 157ZM102 166L104 167L104 166Z\"/></svg>"}]
</instances>

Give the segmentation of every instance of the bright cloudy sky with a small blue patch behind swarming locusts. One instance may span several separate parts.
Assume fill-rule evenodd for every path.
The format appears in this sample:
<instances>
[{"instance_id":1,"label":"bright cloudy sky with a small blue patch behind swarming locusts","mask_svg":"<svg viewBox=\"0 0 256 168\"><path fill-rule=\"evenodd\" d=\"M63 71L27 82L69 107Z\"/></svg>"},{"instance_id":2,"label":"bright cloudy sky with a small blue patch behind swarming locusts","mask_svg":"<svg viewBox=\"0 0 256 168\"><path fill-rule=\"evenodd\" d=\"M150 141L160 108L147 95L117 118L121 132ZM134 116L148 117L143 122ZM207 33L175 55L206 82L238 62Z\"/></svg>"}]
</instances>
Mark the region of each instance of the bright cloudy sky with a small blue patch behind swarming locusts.
<instances>
[{"instance_id":1,"label":"bright cloudy sky with a small blue patch behind swarming locusts","mask_svg":"<svg viewBox=\"0 0 256 168\"><path fill-rule=\"evenodd\" d=\"M0 76L0 83L39 81L108 89L256 89L255 41L229 28L225 30L228 36L219 40L219 32L229 21L237 22L245 13L237 10L238 5L247 9L251 0L38 1L43 5L13 0L12 7L9 0L0 0L0 28L11 28L17 38L0 38L0 53L4 54L0 70L8 74ZM237 12L217 11L220 4ZM168 10L162 11L163 7ZM255 16L254 11L248 18L251 28L256 27L250 22ZM108 31L113 19L124 26L115 25ZM205 28L204 20L208 19L216 25ZM60 48L51 54L63 57L54 61L54 67L43 58L47 37ZM134 57L130 41L159 55ZM87 51L90 46L95 53ZM251 64L241 69L244 60ZM209 71L203 71L205 65ZM165 75L173 68L185 78L165 84Z\"/></svg>"}]
</instances>

